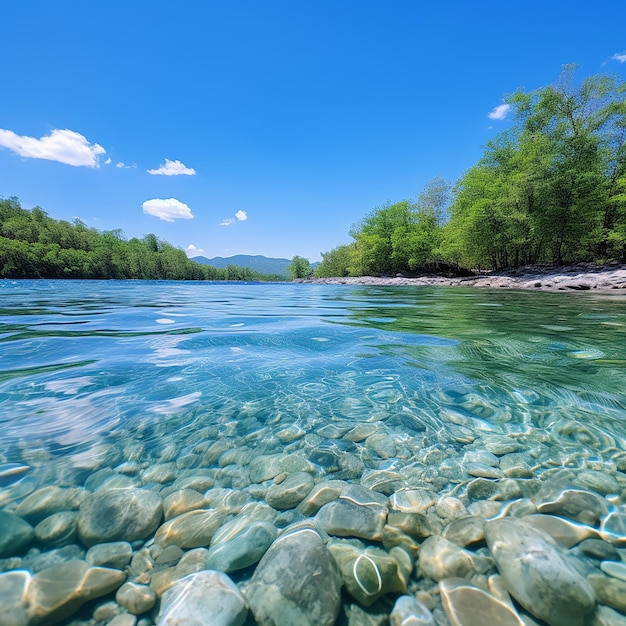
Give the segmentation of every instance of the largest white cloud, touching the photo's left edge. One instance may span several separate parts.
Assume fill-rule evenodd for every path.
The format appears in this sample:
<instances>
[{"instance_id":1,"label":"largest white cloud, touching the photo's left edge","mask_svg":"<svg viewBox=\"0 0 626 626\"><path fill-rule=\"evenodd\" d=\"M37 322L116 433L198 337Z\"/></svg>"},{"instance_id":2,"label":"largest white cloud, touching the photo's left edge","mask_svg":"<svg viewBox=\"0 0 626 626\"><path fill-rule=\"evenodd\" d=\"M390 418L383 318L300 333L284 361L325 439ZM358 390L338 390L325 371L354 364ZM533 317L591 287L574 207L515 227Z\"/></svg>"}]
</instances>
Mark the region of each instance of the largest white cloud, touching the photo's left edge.
<instances>
[{"instance_id":1,"label":"largest white cloud, touching the photo's left edge","mask_svg":"<svg viewBox=\"0 0 626 626\"><path fill-rule=\"evenodd\" d=\"M106 150L73 130L55 129L40 139L0 128L0 146L29 159L58 161L74 167L99 167Z\"/></svg>"}]
</instances>

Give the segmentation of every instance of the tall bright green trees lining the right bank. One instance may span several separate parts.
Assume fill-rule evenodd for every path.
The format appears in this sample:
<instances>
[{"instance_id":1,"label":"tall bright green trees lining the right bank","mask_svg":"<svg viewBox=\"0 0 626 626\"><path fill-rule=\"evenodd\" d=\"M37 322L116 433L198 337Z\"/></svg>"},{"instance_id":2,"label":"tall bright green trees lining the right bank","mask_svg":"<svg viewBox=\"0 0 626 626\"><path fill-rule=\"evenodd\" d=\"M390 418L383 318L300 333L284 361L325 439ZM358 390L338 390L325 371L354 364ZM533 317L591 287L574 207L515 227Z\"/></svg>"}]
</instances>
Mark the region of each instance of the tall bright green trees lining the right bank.
<instances>
[{"instance_id":1,"label":"tall bright green trees lining the right bank","mask_svg":"<svg viewBox=\"0 0 626 626\"><path fill-rule=\"evenodd\" d=\"M374 209L315 274L626 262L626 83L574 72L510 96L513 124L454 186Z\"/></svg>"}]
</instances>

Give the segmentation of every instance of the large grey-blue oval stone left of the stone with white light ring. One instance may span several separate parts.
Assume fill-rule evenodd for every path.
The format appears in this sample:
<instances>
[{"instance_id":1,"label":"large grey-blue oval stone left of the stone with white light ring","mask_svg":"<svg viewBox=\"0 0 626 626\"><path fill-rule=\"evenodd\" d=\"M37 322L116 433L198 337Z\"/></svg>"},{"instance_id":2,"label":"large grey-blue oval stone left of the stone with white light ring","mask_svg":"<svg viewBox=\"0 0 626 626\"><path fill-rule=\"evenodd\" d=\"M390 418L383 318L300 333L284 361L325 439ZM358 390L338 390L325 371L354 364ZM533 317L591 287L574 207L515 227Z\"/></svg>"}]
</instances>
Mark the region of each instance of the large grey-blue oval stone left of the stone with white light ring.
<instances>
[{"instance_id":1,"label":"large grey-blue oval stone left of the stone with white light ring","mask_svg":"<svg viewBox=\"0 0 626 626\"><path fill-rule=\"evenodd\" d=\"M339 568L316 531L287 532L257 565L246 599L259 626L333 626L341 606Z\"/></svg>"}]
</instances>

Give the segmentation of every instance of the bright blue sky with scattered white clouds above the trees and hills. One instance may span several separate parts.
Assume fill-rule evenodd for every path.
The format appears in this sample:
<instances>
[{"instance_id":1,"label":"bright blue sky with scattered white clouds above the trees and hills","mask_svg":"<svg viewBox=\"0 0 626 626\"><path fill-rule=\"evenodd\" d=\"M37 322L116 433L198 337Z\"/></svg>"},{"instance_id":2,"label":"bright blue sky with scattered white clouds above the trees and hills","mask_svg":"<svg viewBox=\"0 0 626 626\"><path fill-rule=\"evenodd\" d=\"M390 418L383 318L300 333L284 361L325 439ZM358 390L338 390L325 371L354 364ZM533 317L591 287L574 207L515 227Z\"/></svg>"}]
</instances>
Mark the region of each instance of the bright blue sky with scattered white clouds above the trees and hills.
<instances>
[{"instance_id":1,"label":"bright blue sky with scattered white clouds above the trees and hills","mask_svg":"<svg viewBox=\"0 0 626 626\"><path fill-rule=\"evenodd\" d=\"M566 63L626 77L623 0L20 0L0 23L0 196L208 257L319 260L455 182L506 94Z\"/></svg>"}]
</instances>

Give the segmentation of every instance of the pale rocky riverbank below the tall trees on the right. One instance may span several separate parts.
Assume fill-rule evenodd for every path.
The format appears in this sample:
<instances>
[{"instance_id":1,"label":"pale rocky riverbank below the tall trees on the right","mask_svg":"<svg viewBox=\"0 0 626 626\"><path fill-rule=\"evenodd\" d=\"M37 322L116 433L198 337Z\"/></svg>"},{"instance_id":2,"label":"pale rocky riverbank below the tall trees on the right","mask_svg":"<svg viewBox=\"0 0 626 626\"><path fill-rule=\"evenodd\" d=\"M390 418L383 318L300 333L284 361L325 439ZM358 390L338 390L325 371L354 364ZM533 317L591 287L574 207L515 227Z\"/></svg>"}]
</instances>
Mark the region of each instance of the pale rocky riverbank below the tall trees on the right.
<instances>
[{"instance_id":1,"label":"pale rocky riverbank below the tall trees on the right","mask_svg":"<svg viewBox=\"0 0 626 626\"><path fill-rule=\"evenodd\" d=\"M583 263L559 268L522 267L506 272L486 272L475 276L347 276L311 278L301 282L325 285L391 285L479 287L483 289L531 289L536 291L589 291L626 289L626 264Z\"/></svg>"}]
</instances>

